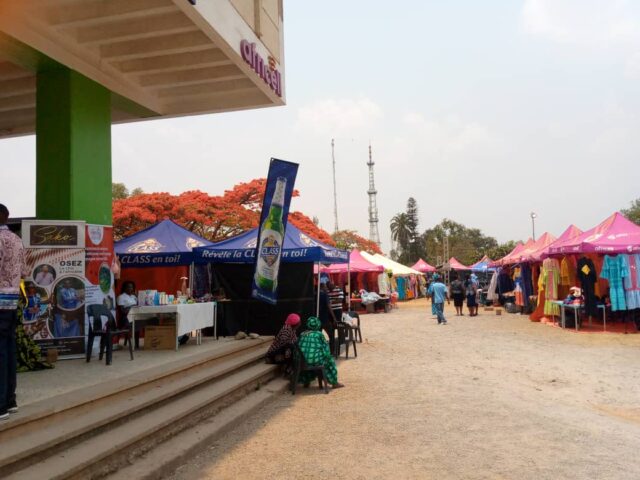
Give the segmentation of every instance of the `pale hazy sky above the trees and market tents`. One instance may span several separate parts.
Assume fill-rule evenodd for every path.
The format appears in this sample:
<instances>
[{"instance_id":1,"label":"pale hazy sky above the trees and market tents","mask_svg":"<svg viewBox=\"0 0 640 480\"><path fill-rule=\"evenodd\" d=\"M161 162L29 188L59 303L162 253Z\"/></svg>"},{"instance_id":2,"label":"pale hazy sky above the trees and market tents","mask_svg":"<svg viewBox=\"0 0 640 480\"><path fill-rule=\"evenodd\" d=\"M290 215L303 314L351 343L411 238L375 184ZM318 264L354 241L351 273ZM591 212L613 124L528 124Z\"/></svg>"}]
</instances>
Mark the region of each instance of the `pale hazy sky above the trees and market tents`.
<instances>
[{"instance_id":1,"label":"pale hazy sky above the trees and market tents","mask_svg":"<svg viewBox=\"0 0 640 480\"><path fill-rule=\"evenodd\" d=\"M300 164L292 209L367 237L418 203L500 242L590 228L640 197L640 2L285 0L286 106L113 127L113 180L222 194ZM35 139L0 141L0 202L35 212Z\"/></svg>"}]
</instances>

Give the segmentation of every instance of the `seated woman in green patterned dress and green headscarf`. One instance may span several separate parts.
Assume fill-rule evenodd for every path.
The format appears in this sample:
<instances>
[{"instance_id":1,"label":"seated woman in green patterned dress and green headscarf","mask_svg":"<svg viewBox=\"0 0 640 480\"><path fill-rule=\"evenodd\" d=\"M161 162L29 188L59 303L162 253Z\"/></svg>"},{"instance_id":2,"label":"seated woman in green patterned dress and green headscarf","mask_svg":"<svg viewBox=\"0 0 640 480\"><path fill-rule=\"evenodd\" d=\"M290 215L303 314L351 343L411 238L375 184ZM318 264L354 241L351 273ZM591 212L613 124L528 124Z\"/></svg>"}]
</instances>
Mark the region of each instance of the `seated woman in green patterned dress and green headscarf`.
<instances>
[{"instance_id":1,"label":"seated woman in green patterned dress and green headscarf","mask_svg":"<svg viewBox=\"0 0 640 480\"><path fill-rule=\"evenodd\" d=\"M321 331L320 320L316 317L309 317L307 328L309 330L300 335L298 340L298 346L304 355L305 362L307 365L323 365L327 381L331 386L333 388L344 387L343 384L338 382L336 362L331 356L329 343ZM316 375L313 372L303 372L300 375L300 381L305 386L309 385L315 378Z\"/></svg>"}]
</instances>

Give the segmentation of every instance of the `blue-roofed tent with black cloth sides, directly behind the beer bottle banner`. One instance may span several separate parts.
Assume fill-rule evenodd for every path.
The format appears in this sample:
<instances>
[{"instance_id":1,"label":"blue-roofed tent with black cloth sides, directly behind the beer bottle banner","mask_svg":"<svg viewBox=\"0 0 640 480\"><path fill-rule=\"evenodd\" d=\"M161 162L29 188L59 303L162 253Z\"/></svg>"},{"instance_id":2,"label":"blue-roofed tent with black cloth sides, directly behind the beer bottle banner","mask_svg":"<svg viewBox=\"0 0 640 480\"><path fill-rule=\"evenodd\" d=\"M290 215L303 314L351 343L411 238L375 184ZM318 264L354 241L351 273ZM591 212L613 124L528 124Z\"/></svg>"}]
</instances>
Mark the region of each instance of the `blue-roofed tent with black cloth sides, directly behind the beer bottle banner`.
<instances>
[{"instance_id":1,"label":"blue-roofed tent with black cloth sides, directly behind the beer bottle banner","mask_svg":"<svg viewBox=\"0 0 640 480\"><path fill-rule=\"evenodd\" d=\"M251 299L251 277L257 243L258 229L254 228L237 237L193 250L196 266L211 264L214 270L212 277L223 284L225 295L235 301L236 310L232 314L244 318L245 328L247 319L257 322L254 328L257 333L276 333L286 314L292 311L311 315L315 310L317 314L319 292L315 298L315 308L309 310L305 303L309 296L313 298L313 265L349 261L349 252L319 242L289 223L285 231L278 278L278 306L272 307ZM247 305L250 307L241 310L239 304L243 308ZM261 315L262 320L259 320ZM238 325L239 322L236 322L236 326ZM235 333L229 329L227 331Z\"/></svg>"}]
</instances>

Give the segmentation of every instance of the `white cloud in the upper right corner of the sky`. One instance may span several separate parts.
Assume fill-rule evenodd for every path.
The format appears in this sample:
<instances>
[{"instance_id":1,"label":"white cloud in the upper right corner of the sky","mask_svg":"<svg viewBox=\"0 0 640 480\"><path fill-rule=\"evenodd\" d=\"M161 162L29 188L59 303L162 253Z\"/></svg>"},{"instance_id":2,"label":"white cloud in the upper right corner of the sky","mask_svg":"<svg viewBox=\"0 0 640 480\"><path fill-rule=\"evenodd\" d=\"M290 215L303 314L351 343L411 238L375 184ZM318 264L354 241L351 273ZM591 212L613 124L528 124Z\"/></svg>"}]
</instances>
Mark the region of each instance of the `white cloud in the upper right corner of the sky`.
<instances>
[{"instance_id":1,"label":"white cloud in the upper right corner of the sky","mask_svg":"<svg viewBox=\"0 0 640 480\"><path fill-rule=\"evenodd\" d=\"M527 33L558 43L637 44L640 7L630 0L525 0L522 26Z\"/></svg>"}]
</instances>

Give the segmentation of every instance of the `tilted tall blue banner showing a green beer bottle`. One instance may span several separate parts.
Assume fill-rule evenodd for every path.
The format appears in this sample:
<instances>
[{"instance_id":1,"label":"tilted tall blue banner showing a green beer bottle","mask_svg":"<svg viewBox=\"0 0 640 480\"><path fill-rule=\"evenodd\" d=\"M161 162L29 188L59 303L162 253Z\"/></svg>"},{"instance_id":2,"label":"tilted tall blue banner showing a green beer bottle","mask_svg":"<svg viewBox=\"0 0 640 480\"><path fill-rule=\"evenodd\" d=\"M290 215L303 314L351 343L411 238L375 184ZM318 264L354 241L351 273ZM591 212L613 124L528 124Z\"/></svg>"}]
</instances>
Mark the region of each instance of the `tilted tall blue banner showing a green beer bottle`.
<instances>
[{"instance_id":1,"label":"tilted tall blue banner showing a green beer bottle","mask_svg":"<svg viewBox=\"0 0 640 480\"><path fill-rule=\"evenodd\" d=\"M297 163L271 159L260 215L251 296L272 305L278 301L280 257L297 173Z\"/></svg>"}]
</instances>

